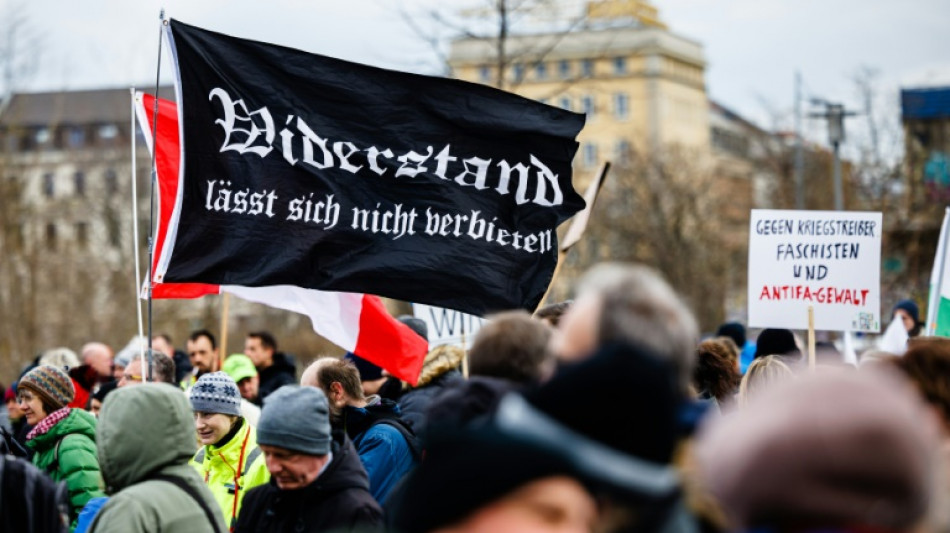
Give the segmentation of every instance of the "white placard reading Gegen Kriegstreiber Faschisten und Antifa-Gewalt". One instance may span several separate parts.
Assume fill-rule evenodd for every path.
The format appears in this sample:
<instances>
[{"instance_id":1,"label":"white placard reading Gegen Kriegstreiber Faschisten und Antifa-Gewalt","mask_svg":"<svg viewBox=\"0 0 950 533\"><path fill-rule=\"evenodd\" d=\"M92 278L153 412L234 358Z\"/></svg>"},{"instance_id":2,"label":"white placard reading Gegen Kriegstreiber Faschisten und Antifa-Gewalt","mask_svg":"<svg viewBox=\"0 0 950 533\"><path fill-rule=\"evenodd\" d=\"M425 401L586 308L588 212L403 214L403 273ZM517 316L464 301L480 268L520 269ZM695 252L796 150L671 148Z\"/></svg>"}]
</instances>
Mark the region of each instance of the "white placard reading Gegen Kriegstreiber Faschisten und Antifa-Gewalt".
<instances>
[{"instance_id":1,"label":"white placard reading Gegen Kriegstreiber Faschisten und Antifa-Gewalt","mask_svg":"<svg viewBox=\"0 0 950 533\"><path fill-rule=\"evenodd\" d=\"M753 209L749 326L881 329L881 213Z\"/></svg>"}]
</instances>

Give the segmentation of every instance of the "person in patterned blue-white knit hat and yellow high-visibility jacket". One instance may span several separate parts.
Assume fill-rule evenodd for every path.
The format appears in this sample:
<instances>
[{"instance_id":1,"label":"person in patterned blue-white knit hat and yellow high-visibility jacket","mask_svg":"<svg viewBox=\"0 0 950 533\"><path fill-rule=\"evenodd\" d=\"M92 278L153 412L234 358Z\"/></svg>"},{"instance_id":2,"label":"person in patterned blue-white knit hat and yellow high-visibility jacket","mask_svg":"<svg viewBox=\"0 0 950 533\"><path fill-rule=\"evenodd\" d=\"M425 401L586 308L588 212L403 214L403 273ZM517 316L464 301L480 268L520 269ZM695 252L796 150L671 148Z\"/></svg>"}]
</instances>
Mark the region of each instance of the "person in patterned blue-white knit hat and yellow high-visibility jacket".
<instances>
[{"instance_id":1,"label":"person in patterned blue-white knit hat and yellow high-visibility jacket","mask_svg":"<svg viewBox=\"0 0 950 533\"><path fill-rule=\"evenodd\" d=\"M224 372L204 374L191 388L195 430L203 445L191 465L204 479L233 531L244 495L270 481L257 430L241 416L241 393Z\"/></svg>"}]
</instances>

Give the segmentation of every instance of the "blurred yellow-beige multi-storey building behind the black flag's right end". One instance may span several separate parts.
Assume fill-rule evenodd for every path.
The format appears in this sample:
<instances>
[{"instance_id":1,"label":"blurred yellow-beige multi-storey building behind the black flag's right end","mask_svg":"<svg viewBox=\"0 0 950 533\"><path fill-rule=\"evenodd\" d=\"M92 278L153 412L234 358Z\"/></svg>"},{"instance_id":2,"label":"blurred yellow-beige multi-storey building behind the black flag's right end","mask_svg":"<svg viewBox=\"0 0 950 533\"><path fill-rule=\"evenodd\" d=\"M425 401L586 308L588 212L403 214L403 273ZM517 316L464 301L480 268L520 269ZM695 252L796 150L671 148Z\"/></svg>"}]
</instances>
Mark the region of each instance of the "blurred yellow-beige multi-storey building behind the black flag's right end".
<instances>
[{"instance_id":1,"label":"blurred yellow-beige multi-storey building behind the black flag's right end","mask_svg":"<svg viewBox=\"0 0 950 533\"><path fill-rule=\"evenodd\" d=\"M586 114L580 181L631 150L708 149L702 45L669 31L647 2L591 2L583 26L511 35L504 48L499 58L496 39L455 40L452 74Z\"/></svg>"}]
</instances>

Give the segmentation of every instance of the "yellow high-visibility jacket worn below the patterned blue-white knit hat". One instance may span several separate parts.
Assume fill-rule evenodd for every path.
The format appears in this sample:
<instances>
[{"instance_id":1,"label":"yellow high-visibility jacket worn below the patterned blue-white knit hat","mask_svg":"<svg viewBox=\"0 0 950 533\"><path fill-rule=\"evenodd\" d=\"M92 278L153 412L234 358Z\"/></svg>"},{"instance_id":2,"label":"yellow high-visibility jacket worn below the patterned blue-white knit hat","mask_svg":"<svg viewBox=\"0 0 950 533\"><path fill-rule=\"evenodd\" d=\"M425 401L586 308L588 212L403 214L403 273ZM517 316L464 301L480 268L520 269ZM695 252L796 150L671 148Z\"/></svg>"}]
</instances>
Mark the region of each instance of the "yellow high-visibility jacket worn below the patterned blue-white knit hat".
<instances>
[{"instance_id":1,"label":"yellow high-visibility jacket worn below the patterned blue-white knit hat","mask_svg":"<svg viewBox=\"0 0 950 533\"><path fill-rule=\"evenodd\" d=\"M243 418L240 424L241 429L224 446L202 446L190 461L214 494L231 531L247 491L270 481L264 454L257 446L257 430Z\"/></svg>"}]
</instances>

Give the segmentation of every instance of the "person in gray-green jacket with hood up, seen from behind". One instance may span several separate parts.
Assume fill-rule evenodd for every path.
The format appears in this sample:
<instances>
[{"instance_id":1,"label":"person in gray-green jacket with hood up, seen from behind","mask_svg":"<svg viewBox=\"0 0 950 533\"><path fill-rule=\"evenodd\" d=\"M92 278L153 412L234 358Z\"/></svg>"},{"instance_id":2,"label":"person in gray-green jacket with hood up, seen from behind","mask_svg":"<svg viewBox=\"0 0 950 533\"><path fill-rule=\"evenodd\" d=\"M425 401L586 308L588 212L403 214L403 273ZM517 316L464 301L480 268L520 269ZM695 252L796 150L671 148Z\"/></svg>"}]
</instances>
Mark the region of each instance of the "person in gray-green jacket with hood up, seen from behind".
<instances>
[{"instance_id":1,"label":"person in gray-green jacket with hood up, seen from behind","mask_svg":"<svg viewBox=\"0 0 950 533\"><path fill-rule=\"evenodd\" d=\"M195 426L185 395L164 383L123 387L106 397L97 444L112 495L91 533L223 533L214 496L188 460Z\"/></svg>"}]
</instances>

